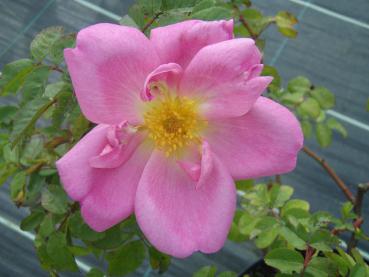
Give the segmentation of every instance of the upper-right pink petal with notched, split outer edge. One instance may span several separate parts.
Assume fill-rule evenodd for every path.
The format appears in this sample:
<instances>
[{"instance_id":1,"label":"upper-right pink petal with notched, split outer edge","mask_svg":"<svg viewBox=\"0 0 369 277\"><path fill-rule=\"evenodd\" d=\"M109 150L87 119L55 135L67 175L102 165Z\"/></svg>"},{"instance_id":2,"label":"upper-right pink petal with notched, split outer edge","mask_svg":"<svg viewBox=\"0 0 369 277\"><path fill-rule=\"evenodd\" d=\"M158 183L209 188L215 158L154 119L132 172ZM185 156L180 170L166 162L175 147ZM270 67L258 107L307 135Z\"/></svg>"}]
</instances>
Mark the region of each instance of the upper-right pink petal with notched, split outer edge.
<instances>
[{"instance_id":1,"label":"upper-right pink petal with notched, split outer edge","mask_svg":"<svg viewBox=\"0 0 369 277\"><path fill-rule=\"evenodd\" d=\"M272 81L258 77L261 54L251 39L232 39L201 49L183 74L179 91L203 101L208 119L245 114Z\"/></svg>"}]
</instances>

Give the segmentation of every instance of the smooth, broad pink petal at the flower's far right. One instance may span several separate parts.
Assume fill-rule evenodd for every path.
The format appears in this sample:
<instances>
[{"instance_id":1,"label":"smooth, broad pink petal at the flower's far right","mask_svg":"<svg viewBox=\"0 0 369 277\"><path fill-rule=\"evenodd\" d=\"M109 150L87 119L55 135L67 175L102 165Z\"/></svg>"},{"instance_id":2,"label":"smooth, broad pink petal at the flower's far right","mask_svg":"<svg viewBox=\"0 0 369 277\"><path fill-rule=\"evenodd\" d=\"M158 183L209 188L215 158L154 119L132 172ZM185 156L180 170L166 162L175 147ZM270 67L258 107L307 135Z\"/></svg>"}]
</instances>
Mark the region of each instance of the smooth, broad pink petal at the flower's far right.
<instances>
[{"instance_id":1,"label":"smooth, broad pink petal at the flower's far right","mask_svg":"<svg viewBox=\"0 0 369 277\"><path fill-rule=\"evenodd\" d=\"M242 117L211 122L211 148L235 179L287 173L296 166L303 135L285 107L260 97Z\"/></svg>"}]
</instances>

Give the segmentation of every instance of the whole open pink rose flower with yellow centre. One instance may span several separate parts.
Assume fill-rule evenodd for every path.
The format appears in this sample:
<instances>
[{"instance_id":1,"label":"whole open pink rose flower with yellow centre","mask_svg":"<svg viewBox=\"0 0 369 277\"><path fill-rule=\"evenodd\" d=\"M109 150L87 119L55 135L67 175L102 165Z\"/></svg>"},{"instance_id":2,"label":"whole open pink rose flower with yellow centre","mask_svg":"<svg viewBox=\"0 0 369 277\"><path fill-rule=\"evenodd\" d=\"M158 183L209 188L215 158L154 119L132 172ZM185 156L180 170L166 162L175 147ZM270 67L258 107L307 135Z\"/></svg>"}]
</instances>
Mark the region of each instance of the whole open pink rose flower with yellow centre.
<instances>
[{"instance_id":1,"label":"whole open pink rose flower with yellow centre","mask_svg":"<svg viewBox=\"0 0 369 277\"><path fill-rule=\"evenodd\" d=\"M232 21L151 31L81 30L64 52L83 114L97 126L57 161L87 224L132 213L160 251L218 251L236 208L234 179L291 171L303 136L295 116L260 96L261 54Z\"/></svg>"}]
</instances>

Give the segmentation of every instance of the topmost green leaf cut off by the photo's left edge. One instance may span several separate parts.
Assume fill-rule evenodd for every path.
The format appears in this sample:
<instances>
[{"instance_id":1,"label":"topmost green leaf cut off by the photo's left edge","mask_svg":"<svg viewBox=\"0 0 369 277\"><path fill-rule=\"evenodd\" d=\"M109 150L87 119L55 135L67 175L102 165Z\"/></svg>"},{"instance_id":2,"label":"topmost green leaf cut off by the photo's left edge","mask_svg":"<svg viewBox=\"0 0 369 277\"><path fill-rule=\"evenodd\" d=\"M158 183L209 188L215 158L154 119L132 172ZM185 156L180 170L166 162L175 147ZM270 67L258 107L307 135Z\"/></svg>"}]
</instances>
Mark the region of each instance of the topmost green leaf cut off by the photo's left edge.
<instances>
[{"instance_id":1,"label":"topmost green leaf cut off by the photo's left edge","mask_svg":"<svg viewBox=\"0 0 369 277\"><path fill-rule=\"evenodd\" d=\"M0 95L16 93L34 68L30 59L21 59L5 65L0 78Z\"/></svg>"}]
</instances>

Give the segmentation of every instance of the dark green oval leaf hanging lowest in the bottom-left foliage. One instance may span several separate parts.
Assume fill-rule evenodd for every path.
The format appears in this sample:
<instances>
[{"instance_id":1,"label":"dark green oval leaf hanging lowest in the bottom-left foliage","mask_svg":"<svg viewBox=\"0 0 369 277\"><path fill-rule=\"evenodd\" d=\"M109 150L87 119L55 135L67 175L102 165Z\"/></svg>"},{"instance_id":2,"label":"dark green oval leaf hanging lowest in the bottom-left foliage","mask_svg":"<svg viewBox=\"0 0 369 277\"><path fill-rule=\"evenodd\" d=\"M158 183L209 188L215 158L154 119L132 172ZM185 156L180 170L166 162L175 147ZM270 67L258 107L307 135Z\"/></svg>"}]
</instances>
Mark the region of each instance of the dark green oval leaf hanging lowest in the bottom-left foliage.
<instances>
[{"instance_id":1,"label":"dark green oval leaf hanging lowest in the bottom-left foliage","mask_svg":"<svg viewBox=\"0 0 369 277\"><path fill-rule=\"evenodd\" d=\"M53 266L57 270L77 271L76 261L69 251L65 234L60 232L53 233L47 242L47 254L52 260Z\"/></svg>"}]
</instances>

